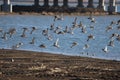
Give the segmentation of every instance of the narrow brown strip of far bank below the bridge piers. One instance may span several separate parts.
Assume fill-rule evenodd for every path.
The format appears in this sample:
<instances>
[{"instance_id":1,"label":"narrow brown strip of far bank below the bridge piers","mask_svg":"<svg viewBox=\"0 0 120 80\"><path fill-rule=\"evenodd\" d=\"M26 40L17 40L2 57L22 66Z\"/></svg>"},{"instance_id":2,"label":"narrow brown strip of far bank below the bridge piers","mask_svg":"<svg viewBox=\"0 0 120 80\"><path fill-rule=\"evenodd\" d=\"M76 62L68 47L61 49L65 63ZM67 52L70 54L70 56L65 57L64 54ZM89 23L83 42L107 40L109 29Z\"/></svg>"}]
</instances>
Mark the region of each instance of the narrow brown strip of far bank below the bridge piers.
<instances>
[{"instance_id":1,"label":"narrow brown strip of far bank below the bridge piers","mask_svg":"<svg viewBox=\"0 0 120 80\"><path fill-rule=\"evenodd\" d=\"M13 12L13 13L6 13L6 12L0 12L0 15L44 15L44 16L54 16L54 15L60 15L63 14L65 16L106 16L106 15L120 15L120 13L113 13L109 14L108 12L86 12L86 13L79 13L79 12L71 12L71 13L61 13L61 12Z\"/></svg>"}]
</instances>

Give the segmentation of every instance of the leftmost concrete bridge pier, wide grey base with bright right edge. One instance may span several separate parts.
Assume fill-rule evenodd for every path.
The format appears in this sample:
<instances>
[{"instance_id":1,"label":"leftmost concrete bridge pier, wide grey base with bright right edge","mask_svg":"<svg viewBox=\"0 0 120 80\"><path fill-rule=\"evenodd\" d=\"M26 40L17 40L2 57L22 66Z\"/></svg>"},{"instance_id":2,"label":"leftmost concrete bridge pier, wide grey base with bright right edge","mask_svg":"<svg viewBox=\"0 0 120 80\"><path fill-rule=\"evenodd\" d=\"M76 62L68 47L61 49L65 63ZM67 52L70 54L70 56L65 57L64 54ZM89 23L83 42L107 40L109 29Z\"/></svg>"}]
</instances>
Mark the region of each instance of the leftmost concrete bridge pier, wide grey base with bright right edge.
<instances>
[{"instance_id":1,"label":"leftmost concrete bridge pier, wide grey base with bright right edge","mask_svg":"<svg viewBox=\"0 0 120 80\"><path fill-rule=\"evenodd\" d=\"M12 13L12 4L10 4L10 0L3 0L3 5L1 7L3 12Z\"/></svg>"}]
</instances>

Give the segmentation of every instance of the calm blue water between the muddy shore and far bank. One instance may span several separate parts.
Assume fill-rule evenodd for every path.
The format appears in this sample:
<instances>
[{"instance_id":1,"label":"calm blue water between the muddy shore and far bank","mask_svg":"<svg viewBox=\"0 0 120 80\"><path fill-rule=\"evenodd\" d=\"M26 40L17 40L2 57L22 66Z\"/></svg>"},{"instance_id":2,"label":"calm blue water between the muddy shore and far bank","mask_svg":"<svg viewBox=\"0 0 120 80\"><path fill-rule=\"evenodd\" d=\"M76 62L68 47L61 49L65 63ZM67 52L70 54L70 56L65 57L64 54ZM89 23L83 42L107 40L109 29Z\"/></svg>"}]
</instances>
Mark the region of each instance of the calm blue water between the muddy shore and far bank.
<instances>
[{"instance_id":1,"label":"calm blue water between the muddy shore and far bank","mask_svg":"<svg viewBox=\"0 0 120 80\"><path fill-rule=\"evenodd\" d=\"M65 29L65 26L71 27L74 18L77 17L77 23L82 21L86 26L87 33L82 33L80 28L74 30L74 34L56 34L53 31L49 30L49 34L52 36L53 40L48 40L47 37L42 35L42 30L50 28L51 24L55 24L55 27L61 26L62 30ZM53 21L53 16L38 16L38 15L1 15L0 16L0 29L3 29L5 32L8 32L10 28L16 28L16 34L12 38L8 37L8 40L0 38L0 48L12 49L13 45L18 44L19 42L24 43L18 50L30 50L30 51L39 51L39 52L50 52L58 53L64 55L77 55L77 56L87 56L93 58L102 58L102 59L111 59L111 60L120 60L120 41L115 39L114 47L108 46L109 52L104 53L102 49L110 41L109 37L112 33L119 33L117 30L117 25L113 25L113 30L106 32L105 29L112 20L117 21L120 19L120 16L94 16L96 23L91 23L88 20L88 16L64 16L63 21ZM90 25L95 27L94 30L89 28ZM30 34L31 27L37 27L37 30ZM23 27L27 27L28 31L26 32L27 37L22 38L20 35L23 32ZM87 42L87 36L93 34L95 40L90 40ZM2 34L0 33L2 37ZM35 37L35 44L29 44L32 38ZM59 38L60 48L53 46L53 43L56 39ZM78 45L71 48L73 42L77 42ZM40 44L45 44L46 48L40 48ZM88 49L83 49L85 44L89 44Z\"/></svg>"}]
</instances>

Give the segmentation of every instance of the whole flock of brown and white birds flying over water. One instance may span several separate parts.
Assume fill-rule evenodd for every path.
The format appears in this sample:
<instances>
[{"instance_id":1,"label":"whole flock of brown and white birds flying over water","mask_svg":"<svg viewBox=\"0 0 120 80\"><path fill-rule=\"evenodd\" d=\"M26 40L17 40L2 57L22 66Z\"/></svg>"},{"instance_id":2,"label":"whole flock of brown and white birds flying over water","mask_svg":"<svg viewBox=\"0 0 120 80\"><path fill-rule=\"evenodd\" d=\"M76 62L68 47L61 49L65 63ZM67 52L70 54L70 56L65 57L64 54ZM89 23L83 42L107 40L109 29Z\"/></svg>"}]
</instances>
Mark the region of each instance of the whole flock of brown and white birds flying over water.
<instances>
[{"instance_id":1,"label":"whole flock of brown and white birds flying over water","mask_svg":"<svg viewBox=\"0 0 120 80\"><path fill-rule=\"evenodd\" d=\"M51 35L51 32L53 32L54 34L57 34L57 35L65 35L65 34L71 34L71 35L74 35L74 31L75 29L80 29L81 30L81 33L85 34L87 33L87 29L86 29L86 26L85 24L83 24L82 21L80 21L80 23L77 22L78 18L75 17L73 22L71 23L72 26L71 27L68 27L67 25L65 26L64 29L62 29L61 26L55 26L55 22L56 21L64 21L64 16L63 15L55 15L54 18L53 18L53 24L51 24L50 26L48 26L48 28L46 29L43 29L42 32L41 32L41 35L45 36L46 39L52 41L53 40L53 35ZM96 23L96 19L94 18L93 15L90 15L88 17L88 20L90 21L90 23L92 24L95 24ZM117 26L117 30L120 30L120 20L118 21L111 21L111 23L109 24L109 26L106 27L106 32L109 32L110 30L113 29L113 25L116 25ZM90 25L90 29L91 30L94 30L95 26L93 25ZM30 35L34 34L35 31L39 30L37 27L31 27L30 29L27 28L27 27L24 27L21 29L22 30L22 33L20 35L20 37L22 37L23 39L24 38L27 38L27 34L26 32L30 32ZM3 40L8 40L10 38L12 38L14 35L17 34L17 30L16 28L10 28L8 31L4 31L2 28L0 28L0 36L1 36L1 39ZM87 43L89 42L90 40L94 40L96 38L96 36L94 36L94 34L89 34L87 36L87 40L86 40L86 43L84 43L84 46L83 46L83 50L87 49L90 47L90 45ZM31 41L29 41L29 44L35 44L36 42L36 37L34 36ZM111 46L111 47L114 47L114 41L117 40L117 41L120 41L120 34L119 33L113 33L110 37L109 37L109 42L108 44L103 47L101 50L105 53L108 53L109 52L109 49L108 49L108 46ZM61 45L59 44L59 41L60 41L60 38L58 36L58 38L55 40L55 42L53 42L53 45L54 47L56 48L61 48ZM15 45L12 45L12 49L17 49L19 47L21 47L22 45L24 45L23 42L19 42ZM47 44L49 45L49 44ZM46 44L40 44L39 47L40 48L47 48L47 45ZM73 48L75 46L79 45L78 42L72 42L71 45L70 45L70 48Z\"/></svg>"}]
</instances>

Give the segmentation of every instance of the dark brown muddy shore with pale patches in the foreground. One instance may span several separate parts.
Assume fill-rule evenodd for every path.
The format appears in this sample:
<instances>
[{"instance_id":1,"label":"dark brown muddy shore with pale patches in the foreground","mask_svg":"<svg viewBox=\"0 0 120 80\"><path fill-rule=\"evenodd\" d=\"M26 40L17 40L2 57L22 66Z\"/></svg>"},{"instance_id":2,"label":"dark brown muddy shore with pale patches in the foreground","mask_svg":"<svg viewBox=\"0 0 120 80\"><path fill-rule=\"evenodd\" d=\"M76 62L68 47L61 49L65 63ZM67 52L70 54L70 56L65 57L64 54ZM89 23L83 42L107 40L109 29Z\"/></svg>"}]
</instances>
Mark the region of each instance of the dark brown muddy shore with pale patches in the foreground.
<instances>
[{"instance_id":1,"label":"dark brown muddy shore with pale patches in the foreground","mask_svg":"<svg viewBox=\"0 0 120 80\"><path fill-rule=\"evenodd\" d=\"M2 49L0 80L120 80L120 61Z\"/></svg>"}]
</instances>

